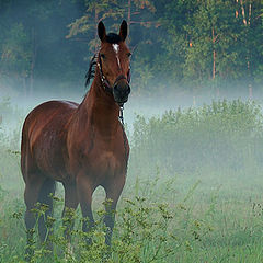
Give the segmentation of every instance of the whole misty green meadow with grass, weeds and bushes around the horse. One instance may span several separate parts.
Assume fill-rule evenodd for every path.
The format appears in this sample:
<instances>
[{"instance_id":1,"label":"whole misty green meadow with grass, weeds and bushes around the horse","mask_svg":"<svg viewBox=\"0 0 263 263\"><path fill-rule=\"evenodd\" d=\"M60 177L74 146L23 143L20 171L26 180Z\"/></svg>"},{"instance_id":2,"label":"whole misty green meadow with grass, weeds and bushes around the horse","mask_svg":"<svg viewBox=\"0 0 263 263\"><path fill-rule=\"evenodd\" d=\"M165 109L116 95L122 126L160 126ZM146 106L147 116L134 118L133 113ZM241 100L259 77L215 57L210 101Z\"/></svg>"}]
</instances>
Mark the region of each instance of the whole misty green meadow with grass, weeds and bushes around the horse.
<instances>
[{"instance_id":1,"label":"whole misty green meadow with grass, weeds and bushes around the horse","mask_svg":"<svg viewBox=\"0 0 263 263\"><path fill-rule=\"evenodd\" d=\"M0 262L25 262L20 130L23 115L0 102ZM113 245L104 245L104 192L94 193L96 228L87 247L78 208L71 249L62 237L62 187L54 216L54 254L35 240L32 262L263 262L263 115L252 101L136 116ZM36 210L38 217L45 207ZM71 251L71 252L70 252Z\"/></svg>"}]
</instances>

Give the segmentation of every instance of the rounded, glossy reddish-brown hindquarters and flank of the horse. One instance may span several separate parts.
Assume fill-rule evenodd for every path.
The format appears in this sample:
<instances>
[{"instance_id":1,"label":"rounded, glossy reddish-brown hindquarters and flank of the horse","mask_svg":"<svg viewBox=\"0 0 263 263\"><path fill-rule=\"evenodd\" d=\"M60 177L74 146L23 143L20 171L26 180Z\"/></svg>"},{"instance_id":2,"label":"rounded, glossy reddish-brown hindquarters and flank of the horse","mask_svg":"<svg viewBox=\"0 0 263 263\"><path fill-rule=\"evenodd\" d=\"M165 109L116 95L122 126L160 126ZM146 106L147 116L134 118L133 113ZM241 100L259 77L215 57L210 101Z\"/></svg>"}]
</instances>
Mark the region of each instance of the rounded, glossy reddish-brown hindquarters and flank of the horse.
<instances>
[{"instance_id":1,"label":"rounded, glossy reddish-brown hindquarters and flank of the horse","mask_svg":"<svg viewBox=\"0 0 263 263\"><path fill-rule=\"evenodd\" d=\"M21 169L25 182L31 173L41 172L58 181L66 176L66 137L78 104L49 101L35 107L22 129Z\"/></svg>"}]
</instances>

